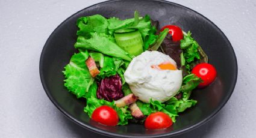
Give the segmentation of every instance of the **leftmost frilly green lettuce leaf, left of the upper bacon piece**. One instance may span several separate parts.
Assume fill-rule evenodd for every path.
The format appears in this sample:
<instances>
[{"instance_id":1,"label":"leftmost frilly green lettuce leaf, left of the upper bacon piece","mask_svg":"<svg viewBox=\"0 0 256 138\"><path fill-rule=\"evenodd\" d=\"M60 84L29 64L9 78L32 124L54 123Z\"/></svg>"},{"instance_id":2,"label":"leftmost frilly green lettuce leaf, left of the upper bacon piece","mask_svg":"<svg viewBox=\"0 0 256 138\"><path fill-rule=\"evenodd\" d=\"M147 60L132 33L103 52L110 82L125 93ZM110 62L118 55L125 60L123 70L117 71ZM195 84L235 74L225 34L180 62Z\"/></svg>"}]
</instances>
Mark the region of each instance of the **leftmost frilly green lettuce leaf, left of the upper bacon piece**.
<instances>
[{"instance_id":1,"label":"leftmost frilly green lettuce leaf, left of the upper bacon piece","mask_svg":"<svg viewBox=\"0 0 256 138\"><path fill-rule=\"evenodd\" d=\"M87 51L75 53L70 59L69 64L64 67L65 76L64 86L75 94L77 98L89 97L96 94L97 85L85 64L89 57Z\"/></svg>"}]
</instances>

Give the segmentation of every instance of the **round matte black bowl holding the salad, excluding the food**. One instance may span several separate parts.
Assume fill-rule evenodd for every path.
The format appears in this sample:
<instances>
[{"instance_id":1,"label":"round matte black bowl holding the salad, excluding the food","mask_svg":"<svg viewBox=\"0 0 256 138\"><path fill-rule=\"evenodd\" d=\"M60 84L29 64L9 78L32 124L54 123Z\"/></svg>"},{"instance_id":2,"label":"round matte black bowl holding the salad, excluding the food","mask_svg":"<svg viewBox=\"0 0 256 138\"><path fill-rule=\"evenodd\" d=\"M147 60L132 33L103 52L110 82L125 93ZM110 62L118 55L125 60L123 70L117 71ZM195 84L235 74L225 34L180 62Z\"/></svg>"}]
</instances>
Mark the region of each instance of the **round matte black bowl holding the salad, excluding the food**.
<instances>
[{"instance_id":1,"label":"round matte black bowl holding the salad, excluding the food","mask_svg":"<svg viewBox=\"0 0 256 138\"><path fill-rule=\"evenodd\" d=\"M76 19L81 16L101 14L105 17L126 19L133 17L134 10L141 15L149 14L159 20L160 27L174 24L184 31L191 31L193 38L207 53L210 64L217 70L217 79L204 89L193 91L192 98L198 104L181 113L172 127L166 130L146 130L143 125L105 127L90 120L83 112L84 99L78 100L63 86L61 71L76 52ZM160 137L174 136L199 127L209 121L225 105L231 96L237 80L237 61L234 50L222 31L196 11L166 1L107 1L78 11L52 32L43 47L40 58L40 77L46 94L60 111L88 130L116 137Z\"/></svg>"}]
</instances>

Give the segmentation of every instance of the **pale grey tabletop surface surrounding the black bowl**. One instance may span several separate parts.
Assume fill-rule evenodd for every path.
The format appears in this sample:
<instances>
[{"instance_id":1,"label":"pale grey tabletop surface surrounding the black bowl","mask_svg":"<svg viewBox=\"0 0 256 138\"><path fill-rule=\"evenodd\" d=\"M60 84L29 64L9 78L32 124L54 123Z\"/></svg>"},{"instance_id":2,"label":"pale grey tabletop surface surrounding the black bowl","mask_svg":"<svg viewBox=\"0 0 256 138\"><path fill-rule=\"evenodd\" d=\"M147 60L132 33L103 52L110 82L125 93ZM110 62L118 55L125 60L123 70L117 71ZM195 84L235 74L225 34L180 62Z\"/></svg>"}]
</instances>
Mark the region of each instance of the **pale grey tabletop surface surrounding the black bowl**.
<instances>
[{"instance_id":1,"label":"pale grey tabletop surface surrounding the black bowl","mask_svg":"<svg viewBox=\"0 0 256 138\"><path fill-rule=\"evenodd\" d=\"M98 1L0 1L0 136L92 137L51 103L39 77L39 58L52 31ZM256 1L172 1L192 8L226 34L239 74L234 93L208 124L180 137L255 137Z\"/></svg>"}]
</instances>

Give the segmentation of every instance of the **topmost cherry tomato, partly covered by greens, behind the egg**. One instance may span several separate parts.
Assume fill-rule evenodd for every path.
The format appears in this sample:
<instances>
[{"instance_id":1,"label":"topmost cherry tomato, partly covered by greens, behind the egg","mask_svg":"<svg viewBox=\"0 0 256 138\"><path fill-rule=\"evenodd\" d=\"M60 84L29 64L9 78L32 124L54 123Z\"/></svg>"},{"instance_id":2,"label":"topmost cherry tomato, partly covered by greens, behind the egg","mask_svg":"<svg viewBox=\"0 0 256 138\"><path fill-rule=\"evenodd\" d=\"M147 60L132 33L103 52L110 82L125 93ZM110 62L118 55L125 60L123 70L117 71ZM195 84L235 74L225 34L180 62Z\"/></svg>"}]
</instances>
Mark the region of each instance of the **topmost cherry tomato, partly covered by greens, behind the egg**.
<instances>
[{"instance_id":1,"label":"topmost cherry tomato, partly covered by greens, behind the egg","mask_svg":"<svg viewBox=\"0 0 256 138\"><path fill-rule=\"evenodd\" d=\"M180 40L183 39L183 31L179 26L166 25L160 31L163 31L166 28L169 29L169 34L172 35L172 40L173 41L180 41Z\"/></svg>"}]
</instances>

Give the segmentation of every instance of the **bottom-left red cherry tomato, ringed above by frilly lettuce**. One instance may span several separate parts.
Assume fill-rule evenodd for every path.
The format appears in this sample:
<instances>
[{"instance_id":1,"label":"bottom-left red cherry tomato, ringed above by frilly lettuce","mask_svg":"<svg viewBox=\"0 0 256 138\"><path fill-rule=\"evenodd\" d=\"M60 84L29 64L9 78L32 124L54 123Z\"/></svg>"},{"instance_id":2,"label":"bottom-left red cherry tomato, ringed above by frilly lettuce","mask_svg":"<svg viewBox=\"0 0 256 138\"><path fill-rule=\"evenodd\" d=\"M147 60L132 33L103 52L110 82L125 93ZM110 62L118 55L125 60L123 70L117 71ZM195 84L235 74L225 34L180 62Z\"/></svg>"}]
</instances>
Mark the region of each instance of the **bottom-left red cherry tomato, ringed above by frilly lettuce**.
<instances>
[{"instance_id":1,"label":"bottom-left red cherry tomato, ringed above by frilly lettuce","mask_svg":"<svg viewBox=\"0 0 256 138\"><path fill-rule=\"evenodd\" d=\"M118 123L118 115L114 109L109 106L100 106L92 113L92 119L104 125L114 126Z\"/></svg>"}]
</instances>

